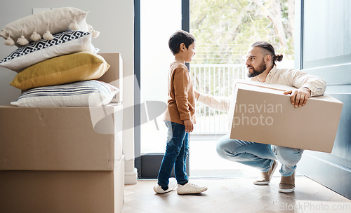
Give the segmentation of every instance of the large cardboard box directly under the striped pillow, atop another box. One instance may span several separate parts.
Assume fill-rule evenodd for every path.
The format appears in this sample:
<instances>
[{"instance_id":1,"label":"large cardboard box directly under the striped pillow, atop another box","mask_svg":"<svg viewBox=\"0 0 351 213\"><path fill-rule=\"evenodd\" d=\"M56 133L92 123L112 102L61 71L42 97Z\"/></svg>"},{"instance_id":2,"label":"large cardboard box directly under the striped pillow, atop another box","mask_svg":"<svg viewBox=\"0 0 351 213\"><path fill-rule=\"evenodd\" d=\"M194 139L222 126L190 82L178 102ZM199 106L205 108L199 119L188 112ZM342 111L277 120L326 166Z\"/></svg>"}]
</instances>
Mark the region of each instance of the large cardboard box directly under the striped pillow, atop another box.
<instances>
[{"instance_id":1,"label":"large cardboard box directly under the striped pillow, atop another box","mask_svg":"<svg viewBox=\"0 0 351 213\"><path fill-rule=\"evenodd\" d=\"M121 106L0 107L0 170L108 170L121 158Z\"/></svg>"}]
</instances>

